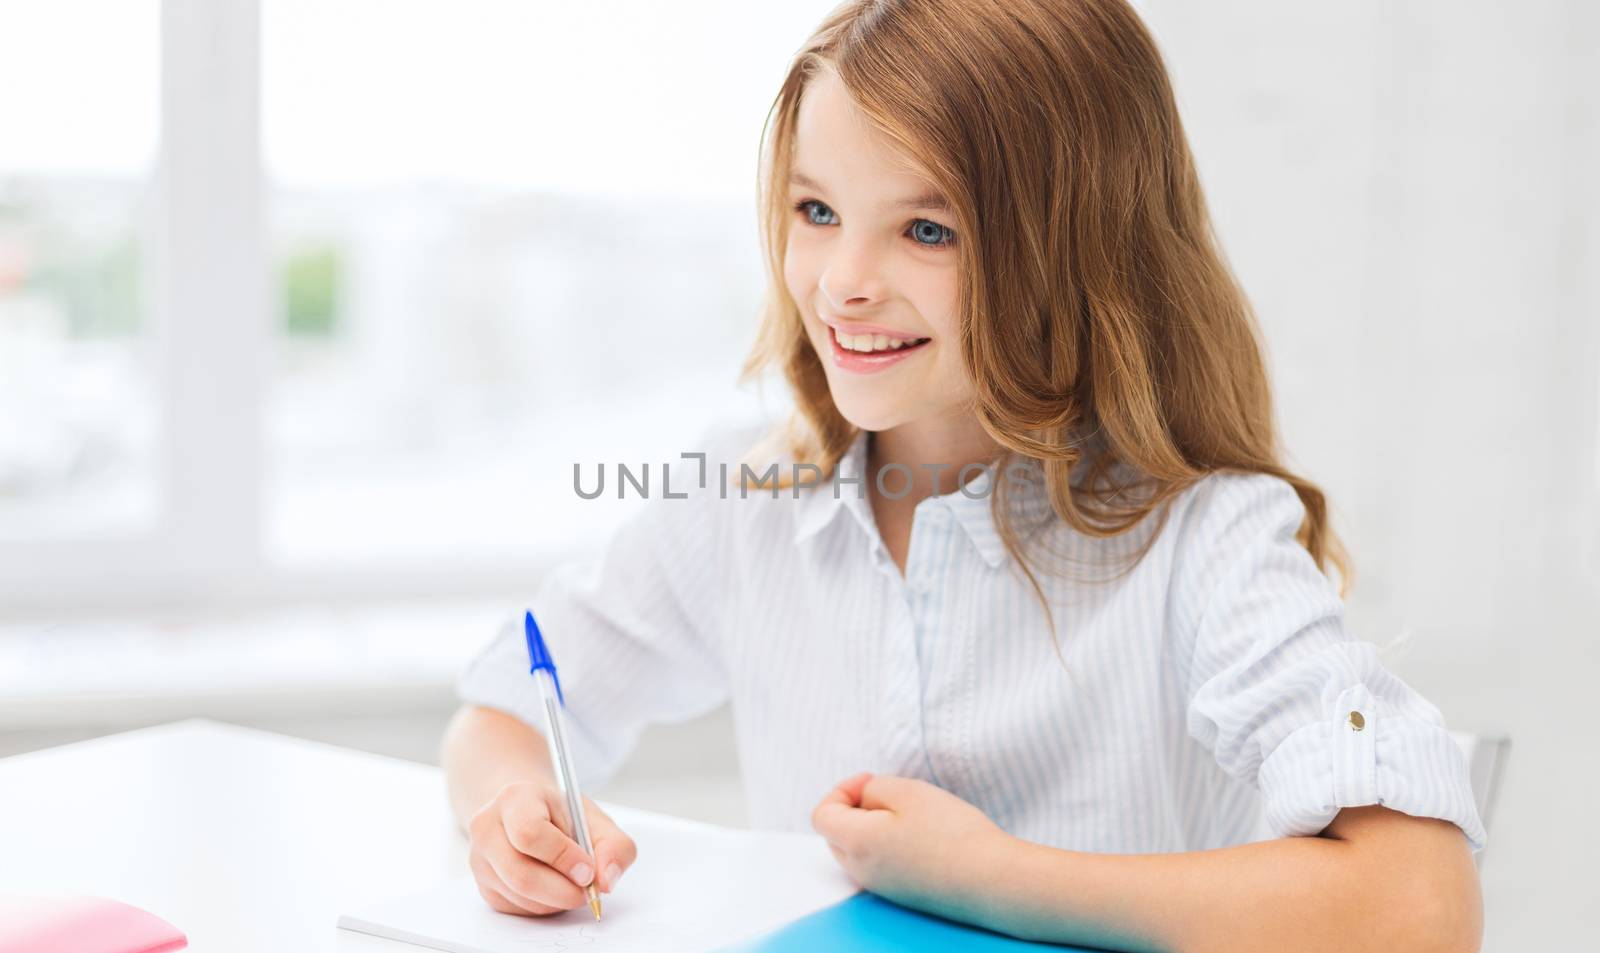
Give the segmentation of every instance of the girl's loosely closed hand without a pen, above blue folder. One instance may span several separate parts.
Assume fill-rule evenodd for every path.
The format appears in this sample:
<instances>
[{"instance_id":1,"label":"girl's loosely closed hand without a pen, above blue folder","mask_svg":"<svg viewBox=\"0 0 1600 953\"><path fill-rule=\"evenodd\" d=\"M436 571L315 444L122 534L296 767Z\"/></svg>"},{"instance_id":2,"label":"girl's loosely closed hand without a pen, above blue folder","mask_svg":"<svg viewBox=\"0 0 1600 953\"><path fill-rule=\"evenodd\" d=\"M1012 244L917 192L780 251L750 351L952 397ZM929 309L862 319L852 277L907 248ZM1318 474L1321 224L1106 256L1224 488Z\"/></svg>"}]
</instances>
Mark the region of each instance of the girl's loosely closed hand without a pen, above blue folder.
<instances>
[{"instance_id":1,"label":"girl's loosely closed hand without a pen, above blue folder","mask_svg":"<svg viewBox=\"0 0 1600 953\"><path fill-rule=\"evenodd\" d=\"M925 780L858 774L811 811L811 827L858 886L930 913L981 923L1013 838Z\"/></svg>"}]
</instances>

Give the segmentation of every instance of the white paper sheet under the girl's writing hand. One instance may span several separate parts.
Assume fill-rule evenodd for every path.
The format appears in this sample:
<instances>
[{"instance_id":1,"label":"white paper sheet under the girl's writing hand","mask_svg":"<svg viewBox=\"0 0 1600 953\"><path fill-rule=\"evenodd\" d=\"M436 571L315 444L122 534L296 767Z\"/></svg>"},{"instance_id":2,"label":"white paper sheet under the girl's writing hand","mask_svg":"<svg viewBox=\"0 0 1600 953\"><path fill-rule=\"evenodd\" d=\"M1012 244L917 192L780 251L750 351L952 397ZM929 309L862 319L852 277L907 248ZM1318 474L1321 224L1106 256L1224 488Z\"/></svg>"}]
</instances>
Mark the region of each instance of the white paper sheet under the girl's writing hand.
<instances>
[{"instance_id":1,"label":"white paper sheet under the girl's writing hand","mask_svg":"<svg viewBox=\"0 0 1600 953\"><path fill-rule=\"evenodd\" d=\"M606 812L638 860L603 919L587 905L555 916L496 913L472 876L339 918L342 929L450 953L701 953L762 935L856 892L814 835L755 833L646 811Z\"/></svg>"}]
</instances>

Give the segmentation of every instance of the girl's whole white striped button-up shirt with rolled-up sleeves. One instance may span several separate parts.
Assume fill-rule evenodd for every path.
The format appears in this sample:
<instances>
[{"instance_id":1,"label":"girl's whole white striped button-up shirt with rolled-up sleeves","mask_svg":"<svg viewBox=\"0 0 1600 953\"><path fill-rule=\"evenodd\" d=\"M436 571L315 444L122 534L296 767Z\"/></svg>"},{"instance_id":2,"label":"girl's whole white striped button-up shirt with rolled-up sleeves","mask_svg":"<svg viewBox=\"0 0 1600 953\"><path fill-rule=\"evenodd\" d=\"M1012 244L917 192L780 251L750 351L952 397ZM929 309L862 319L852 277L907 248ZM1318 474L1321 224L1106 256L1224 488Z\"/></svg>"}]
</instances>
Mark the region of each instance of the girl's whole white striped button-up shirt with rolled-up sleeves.
<instances>
[{"instance_id":1,"label":"girl's whole white striped button-up shirt with rolled-up sleeves","mask_svg":"<svg viewBox=\"0 0 1600 953\"><path fill-rule=\"evenodd\" d=\"M808 830L834 784L872 771L1074 851L1312 835L1363 804L1451 820L1482 849L1461 750L1347 630L1283 480L1213 473L1165 523L1110 539L1016 483L1034 486L1014 499L1027 539L1078 568L1038 574L1058 659L990 520L994 470L917 504L902 577L864 483L848 481L866 441L840 461L837 494L824 481L739 499L712 476L642 504L598 558L536 590L586 784L645 724L730 700L754 827ZM738 456L714 451L712 473L718 459ZM1131 572L1104 571L1152 532ZM520 611L459 691L541 726Z\"/></svg>"}]
</instances>

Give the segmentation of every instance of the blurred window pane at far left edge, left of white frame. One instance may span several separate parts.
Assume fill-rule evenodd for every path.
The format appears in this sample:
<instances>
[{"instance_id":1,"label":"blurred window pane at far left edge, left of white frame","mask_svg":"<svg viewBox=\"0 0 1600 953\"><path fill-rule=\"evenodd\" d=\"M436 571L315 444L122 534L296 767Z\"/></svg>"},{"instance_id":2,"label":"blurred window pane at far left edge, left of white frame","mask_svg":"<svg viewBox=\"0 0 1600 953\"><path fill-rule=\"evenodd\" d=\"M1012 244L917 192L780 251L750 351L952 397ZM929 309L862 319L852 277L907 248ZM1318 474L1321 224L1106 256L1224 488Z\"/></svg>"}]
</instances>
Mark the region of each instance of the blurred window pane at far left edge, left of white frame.
<instances>
[{"instance_id":1,"label":"blurred window pane at far left edge, left of white frame","mask_svg":"<svg viewBox=\"0 0 1600 953\"><path fill-rule=\"evenodd\" d=\"M126 536L158 508L160 11L0 10L0 542Z\"/></svg>"}]
</instances>

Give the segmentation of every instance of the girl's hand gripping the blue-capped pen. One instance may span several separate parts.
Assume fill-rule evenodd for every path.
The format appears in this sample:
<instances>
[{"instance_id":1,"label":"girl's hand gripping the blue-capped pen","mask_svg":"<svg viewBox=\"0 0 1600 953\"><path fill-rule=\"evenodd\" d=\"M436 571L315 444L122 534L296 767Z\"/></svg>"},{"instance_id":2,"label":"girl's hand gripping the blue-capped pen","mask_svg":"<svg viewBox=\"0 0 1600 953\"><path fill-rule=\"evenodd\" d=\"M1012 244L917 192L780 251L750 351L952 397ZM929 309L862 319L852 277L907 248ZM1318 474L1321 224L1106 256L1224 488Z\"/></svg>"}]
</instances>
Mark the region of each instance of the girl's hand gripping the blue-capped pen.
<instances>
[{"instance_id":1,"label":"girl's hand gripping the blue-capped pen","mask_svg":"<svg viewBox=\"0 0 1600 953\"><path fill-rule=\"evenodd\" d=\"M571 825L560 788L530 780L502 787L467 823L467 863L478 894L501 913L560 913L589 902L584 887L597 870L597 886L610 894L638 849L589 798L584 817L595 857L563 833Z\"/></svg>"}]
</instances>

